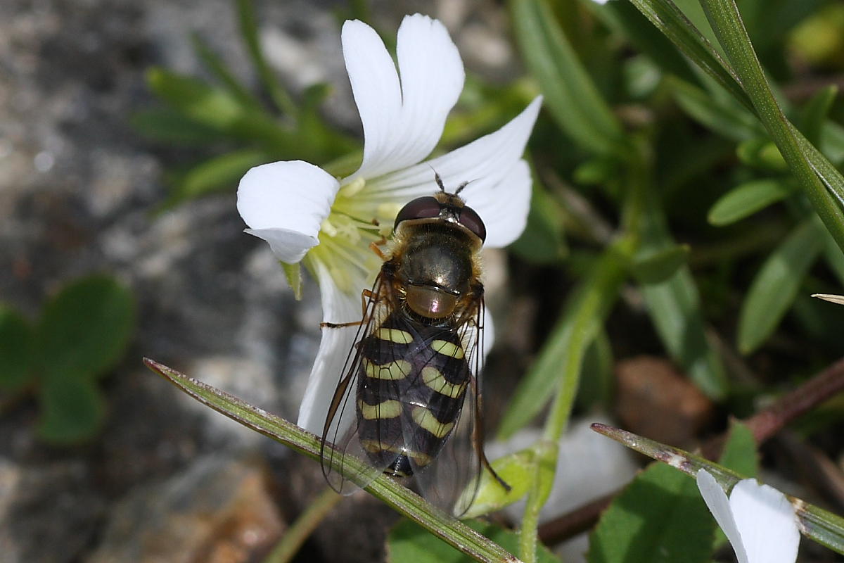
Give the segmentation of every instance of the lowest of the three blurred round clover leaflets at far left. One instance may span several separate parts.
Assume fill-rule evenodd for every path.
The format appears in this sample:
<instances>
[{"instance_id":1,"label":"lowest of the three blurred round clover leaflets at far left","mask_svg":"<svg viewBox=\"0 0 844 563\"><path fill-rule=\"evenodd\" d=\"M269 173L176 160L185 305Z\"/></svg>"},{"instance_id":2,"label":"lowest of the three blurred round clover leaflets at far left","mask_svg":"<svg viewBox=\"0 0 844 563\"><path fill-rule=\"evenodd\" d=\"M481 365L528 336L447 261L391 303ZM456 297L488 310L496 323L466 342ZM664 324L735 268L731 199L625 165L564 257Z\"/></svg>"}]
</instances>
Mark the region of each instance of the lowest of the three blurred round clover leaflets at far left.
<instances>
[{"instance_id":1,"label":"lowest of the three blurred round clover leaflets at far left","mask_svg":"<svg viewBox=\"0 0 844 563\"><path fill-rule=\"evenodd\" d=\"M65 372L41 385L38 434L45 441L74 444L95 436L106 407L96 383L83 374Z\"/></svg>"}]
</instances>

